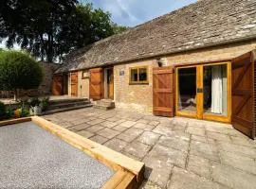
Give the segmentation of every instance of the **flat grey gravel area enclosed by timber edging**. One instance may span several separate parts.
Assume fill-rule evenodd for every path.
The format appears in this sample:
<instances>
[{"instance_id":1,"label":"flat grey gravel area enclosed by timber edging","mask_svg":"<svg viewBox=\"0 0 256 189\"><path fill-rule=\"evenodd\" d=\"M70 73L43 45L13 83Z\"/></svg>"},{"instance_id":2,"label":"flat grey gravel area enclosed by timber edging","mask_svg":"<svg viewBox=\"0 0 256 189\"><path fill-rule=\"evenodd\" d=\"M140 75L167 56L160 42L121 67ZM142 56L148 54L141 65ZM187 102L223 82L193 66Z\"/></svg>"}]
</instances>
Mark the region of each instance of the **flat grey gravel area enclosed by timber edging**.
<instances>
[{"instance_id":1,"label":"flat grey gravel area enclosed by timber edging","mask_svg":"<svg viewBox=\"0 0 256 189\"><path fill-rule=\"evenodd\" d=\"M32 122L0 127L0 188L101 188L114 173Z\"/></svg>"}]
</instances>

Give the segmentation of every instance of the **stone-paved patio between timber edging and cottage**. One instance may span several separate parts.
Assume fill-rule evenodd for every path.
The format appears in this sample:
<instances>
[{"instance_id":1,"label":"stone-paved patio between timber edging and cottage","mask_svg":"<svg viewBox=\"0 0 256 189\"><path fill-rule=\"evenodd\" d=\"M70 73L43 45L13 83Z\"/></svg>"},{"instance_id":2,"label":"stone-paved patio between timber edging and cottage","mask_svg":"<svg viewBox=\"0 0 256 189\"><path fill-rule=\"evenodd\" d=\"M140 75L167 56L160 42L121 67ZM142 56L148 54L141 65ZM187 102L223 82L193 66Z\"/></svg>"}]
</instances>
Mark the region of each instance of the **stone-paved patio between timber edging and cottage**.
<instances>
[{"instance_id":1,"label":"stone-paved patio between timber edging and cottage","mask_svg":"<svg viewBox=\"0 0 256 189\"><path fill-rule=\"evenodd\" d=\"M144 162L141 188L256 188L256 142L229 125L93 108L44 117Z\"/></svg>"}]
</instances>

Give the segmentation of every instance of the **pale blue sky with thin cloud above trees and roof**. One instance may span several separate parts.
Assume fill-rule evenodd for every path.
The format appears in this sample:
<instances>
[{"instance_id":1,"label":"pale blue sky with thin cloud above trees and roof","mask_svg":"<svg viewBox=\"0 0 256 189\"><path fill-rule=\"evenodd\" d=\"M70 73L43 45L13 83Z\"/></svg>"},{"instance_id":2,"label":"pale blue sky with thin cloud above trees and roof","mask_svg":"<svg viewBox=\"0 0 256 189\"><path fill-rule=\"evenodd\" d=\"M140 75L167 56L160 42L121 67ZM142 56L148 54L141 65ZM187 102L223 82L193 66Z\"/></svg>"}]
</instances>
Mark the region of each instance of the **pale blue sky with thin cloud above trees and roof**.
<instances>
[{"instance_id":1,"label":"pale blue sky with thin cloud above trees and roof","mask_svg":"<svg viewBox=\"0 0 256 189\"><path fill-rule=\"evenodd\" d=\"M121 26L137 26L196 0L79 0L107 10L112 21Z\"/></svg>"}]
</instances>

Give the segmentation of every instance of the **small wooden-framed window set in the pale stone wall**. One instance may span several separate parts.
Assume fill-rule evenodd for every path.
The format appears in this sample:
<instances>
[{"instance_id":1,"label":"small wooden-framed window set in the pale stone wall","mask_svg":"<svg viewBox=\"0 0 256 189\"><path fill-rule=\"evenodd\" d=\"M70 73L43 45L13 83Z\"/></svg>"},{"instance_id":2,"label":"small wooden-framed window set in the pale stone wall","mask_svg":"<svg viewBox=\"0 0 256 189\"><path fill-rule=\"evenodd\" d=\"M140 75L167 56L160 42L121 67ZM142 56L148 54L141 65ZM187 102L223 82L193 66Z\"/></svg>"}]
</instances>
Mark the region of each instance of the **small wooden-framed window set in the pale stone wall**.
<instances>
[{"instance_id":1,"label":"small wooden-framed window set in the pale stone wall","mask_svg":"<svg viewBox=\"0 0 256 189\"><path fill-rule=\"evenodd\" d=\"M130 68L130 84L148 84L148 67Z\"/></svg>"}]
</instances>

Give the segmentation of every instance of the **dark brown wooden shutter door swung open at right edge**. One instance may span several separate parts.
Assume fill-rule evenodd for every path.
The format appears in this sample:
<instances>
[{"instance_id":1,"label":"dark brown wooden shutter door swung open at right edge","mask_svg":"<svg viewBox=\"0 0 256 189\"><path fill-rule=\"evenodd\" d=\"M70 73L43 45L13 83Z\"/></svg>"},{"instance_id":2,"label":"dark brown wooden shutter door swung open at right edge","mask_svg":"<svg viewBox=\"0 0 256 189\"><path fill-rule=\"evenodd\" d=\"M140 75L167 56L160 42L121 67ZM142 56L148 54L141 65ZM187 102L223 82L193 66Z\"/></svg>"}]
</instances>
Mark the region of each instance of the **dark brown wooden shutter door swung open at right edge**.
<instances>
[{"instance_id":1,"label":"dark brown wooden shutter door swung open at right edge","mask_svg":"<svg viewBox=\"0 0 256 189\"><path fill-rule=\"evenodd\" d=\"M232 125L247 136L255 137L254 104L255 53L232 60Z\"/></svg>"}]
</instances>

